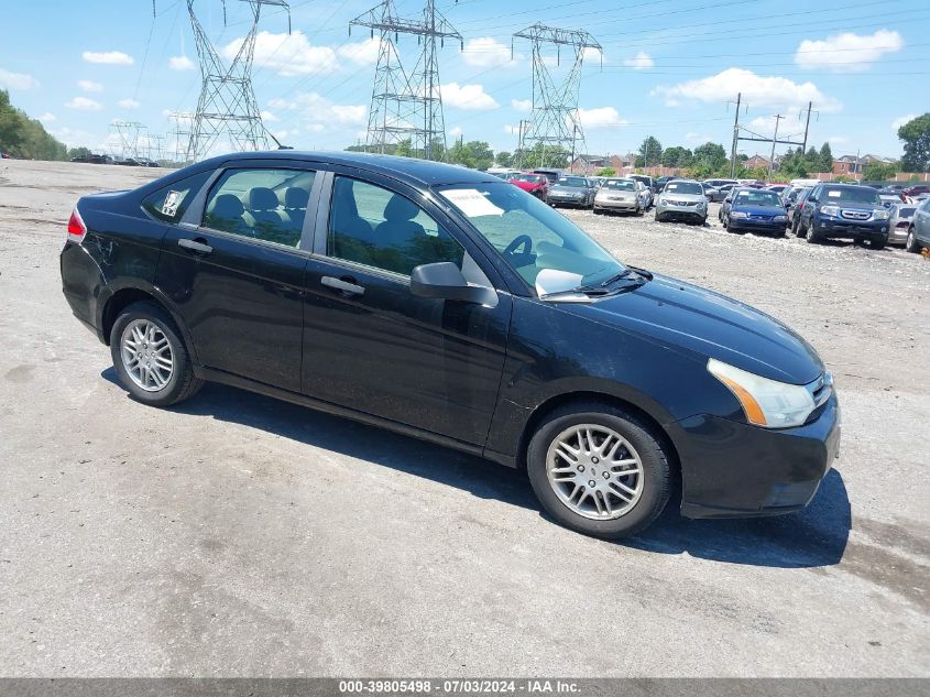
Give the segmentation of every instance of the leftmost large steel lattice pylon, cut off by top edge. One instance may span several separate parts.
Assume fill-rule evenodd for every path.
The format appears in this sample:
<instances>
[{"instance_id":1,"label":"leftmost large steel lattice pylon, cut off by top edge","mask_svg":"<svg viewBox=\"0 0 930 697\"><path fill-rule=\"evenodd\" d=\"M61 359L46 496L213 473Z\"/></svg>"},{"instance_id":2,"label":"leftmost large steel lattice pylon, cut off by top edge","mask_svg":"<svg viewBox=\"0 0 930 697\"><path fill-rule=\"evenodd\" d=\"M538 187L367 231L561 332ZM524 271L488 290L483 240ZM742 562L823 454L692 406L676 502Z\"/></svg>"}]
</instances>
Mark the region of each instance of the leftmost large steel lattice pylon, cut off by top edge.
<instances>
[{"instance_id":1,"label":"leftmost large steel lattice pylon, cut off by top edge","mask_svg":"<svg viewBox=\"0 0 930 697\"><path fill-rule=\"evenodd\" d=\"M262 6L273 4L287 11L287 33L291 33L291 8L285 0L242 0L249 4L252 23L239 51L227 67L214 48L207 32L194 12L194 0L187 0L190 26L200 59L200 97L190 126L186 160L197 162L209 154L221 135L229 139L233 150L267 150L267 131L255 92L252 89L252 59ZM223 0L226 22L226 0Z\"/></svg>"}]
</instances>

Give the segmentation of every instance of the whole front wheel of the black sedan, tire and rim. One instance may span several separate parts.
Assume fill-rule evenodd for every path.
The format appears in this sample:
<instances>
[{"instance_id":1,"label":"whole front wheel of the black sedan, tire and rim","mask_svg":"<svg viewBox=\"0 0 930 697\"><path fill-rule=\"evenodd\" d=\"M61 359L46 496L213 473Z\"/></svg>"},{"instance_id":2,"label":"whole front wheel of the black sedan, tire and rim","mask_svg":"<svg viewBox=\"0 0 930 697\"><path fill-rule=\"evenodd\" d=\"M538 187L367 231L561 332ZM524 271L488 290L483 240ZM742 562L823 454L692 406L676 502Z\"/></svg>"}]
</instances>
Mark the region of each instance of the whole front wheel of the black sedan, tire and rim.
<instances>
[{"instance_id":1,"label":"whole front wheel of the black sedan, tire and rim","mask_svg":"<svg viewBox=\"0 0 930 697\"><path fill-rule=\"evenodd\" d=\"M597 403L551 413L529 442L526 467L548 513L598 537L644 530L671 490L659 437L634 414Z\"/></svg>"}]
</instances>

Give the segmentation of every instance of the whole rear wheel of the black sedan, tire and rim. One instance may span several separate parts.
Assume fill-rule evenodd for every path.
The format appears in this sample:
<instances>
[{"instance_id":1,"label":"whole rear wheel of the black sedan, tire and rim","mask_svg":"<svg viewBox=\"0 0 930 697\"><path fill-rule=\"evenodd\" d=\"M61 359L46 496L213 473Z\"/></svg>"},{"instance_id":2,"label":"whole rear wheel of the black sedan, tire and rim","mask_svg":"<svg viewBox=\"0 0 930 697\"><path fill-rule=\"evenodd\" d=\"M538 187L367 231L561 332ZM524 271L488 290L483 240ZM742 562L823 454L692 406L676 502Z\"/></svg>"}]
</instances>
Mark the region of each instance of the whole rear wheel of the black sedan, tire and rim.
<instances>
[{"instance_id":1,"label":"whole rear wheel of the black sedan, tire and rim","mask_svg":"<svg viewBox=\"0 0 930 697\"><path fill-rule=\"evenodd\" d=\"M177 327L154 303L133 303L120 313L110 331L110 353L122 385L144 404L168 406L203 386Z\"/></svg>"}]
</instances>

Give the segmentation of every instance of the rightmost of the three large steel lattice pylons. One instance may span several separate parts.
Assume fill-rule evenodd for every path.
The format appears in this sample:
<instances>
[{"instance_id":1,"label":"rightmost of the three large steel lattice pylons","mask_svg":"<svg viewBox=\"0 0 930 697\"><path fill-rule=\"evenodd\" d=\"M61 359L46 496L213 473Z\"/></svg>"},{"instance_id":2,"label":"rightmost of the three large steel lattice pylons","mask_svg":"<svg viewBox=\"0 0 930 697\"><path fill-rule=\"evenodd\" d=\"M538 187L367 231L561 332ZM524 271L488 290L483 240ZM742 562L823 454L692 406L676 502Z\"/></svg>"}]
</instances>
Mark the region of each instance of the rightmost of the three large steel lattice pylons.
<instances>
[{"instance_id":1,"label":"rightmost of the three large steel lattice pylons","mask_svg":"<svg viewBox=\"0 0 930 697\"><path fill-rule=\"evenodd\" d=\"M526 39L533 44L533 111L529 128L521 139L521 156L527 148L540 143L540 165L547 148L570 150L572 156L584 152L584 131L578 118L581 66L586 48L597 50L603 62L601 44L586 31L556 29L538 22L515 33L514 39ZM549 44L556 46L557 66L561 63L562 46L569 46L573 54L568 73L560 80L552 76L551 57L544 55L544 47Z\"/></svg>"}]
</instances>

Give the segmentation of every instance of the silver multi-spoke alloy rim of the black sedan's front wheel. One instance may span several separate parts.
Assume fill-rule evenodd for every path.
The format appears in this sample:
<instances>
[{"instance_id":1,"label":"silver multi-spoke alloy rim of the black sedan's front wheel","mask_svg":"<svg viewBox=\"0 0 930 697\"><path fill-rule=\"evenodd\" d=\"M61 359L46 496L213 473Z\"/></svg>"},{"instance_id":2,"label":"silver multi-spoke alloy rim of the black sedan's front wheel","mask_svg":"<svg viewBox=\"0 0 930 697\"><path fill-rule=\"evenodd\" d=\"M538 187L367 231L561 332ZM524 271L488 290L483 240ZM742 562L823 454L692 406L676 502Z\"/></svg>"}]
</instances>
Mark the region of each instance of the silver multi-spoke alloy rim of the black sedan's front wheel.
<instances>
[{"instance_id":1,"label":"silver multi-spoke alloy rim of the black sedan's front wheel","mask_svg":"<svg viewBox=\"0 0 930 697\"><path fill-rule=\"evenodd\" d=\"M546 454L546 475L559 500L578 515L614 520L643 494L643 460L613 428L579 424L556 436Z\"/></svg>"}]
</instances>

